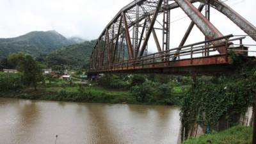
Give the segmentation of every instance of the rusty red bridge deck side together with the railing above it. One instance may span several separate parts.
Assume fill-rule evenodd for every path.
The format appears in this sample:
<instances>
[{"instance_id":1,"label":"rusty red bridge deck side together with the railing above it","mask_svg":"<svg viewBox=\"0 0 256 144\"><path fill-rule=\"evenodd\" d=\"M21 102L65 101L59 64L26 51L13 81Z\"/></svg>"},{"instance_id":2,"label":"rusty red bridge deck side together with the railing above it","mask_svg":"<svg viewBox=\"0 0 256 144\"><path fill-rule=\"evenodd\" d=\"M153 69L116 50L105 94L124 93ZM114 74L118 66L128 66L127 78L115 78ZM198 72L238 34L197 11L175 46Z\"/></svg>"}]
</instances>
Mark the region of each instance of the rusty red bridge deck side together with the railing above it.
<instances>
[{"instance_id":1,"label":"rusty red bridge deck side together with the railing above it","mask_svg":"<svg viewBox=\"0 0 256 144\"><path fill-rule=\"evenodd\" d=\"M236 40L243 38L231 39L232 35L223 36L214 40L198 42L196 44L170 49L168 51L146 54L140 58L116 61L115 63L92 63L88 74L100 73L165 73L165 74L220 74L230 70L232 60L228 56L231 49L239 49L238 54L243 53L246 49L243 45L234 47L232 45ZM220 45L205 45L207 42L224 40ZM218 47L225 47L225 53L216 54ZM241 51L240 51L241 50ZM215 53L214 53L215 52ZM218 53L218 52L217 52ZM176 60L177 58L179 60Z\"/></svg>"}]
</instances>

